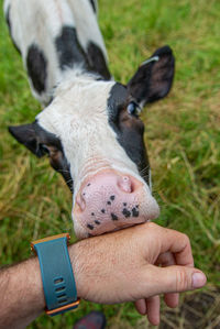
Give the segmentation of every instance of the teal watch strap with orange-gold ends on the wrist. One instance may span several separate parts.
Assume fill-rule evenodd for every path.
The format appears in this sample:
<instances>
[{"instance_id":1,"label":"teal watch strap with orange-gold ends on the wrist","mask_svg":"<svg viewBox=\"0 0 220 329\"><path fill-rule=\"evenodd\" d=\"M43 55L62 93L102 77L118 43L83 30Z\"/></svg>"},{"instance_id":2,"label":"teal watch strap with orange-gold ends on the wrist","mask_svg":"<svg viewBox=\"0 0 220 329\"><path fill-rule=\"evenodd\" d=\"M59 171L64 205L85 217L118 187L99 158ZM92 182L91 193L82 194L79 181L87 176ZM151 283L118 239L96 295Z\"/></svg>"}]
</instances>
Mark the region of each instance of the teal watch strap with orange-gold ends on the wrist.
<instances>
[{"instance_id":1,"label":"teal watch strap with orange-gold ends on the wrist","mask_svg":"<svg viewBox=\"0 0 220 329\"><path fill-rule=\"evenodd\" d=\"M78 306L76 283L69 260L68 234L59 234L32 242L38 256L46 312L51 316Z\"/></svg>"}]
</instances>

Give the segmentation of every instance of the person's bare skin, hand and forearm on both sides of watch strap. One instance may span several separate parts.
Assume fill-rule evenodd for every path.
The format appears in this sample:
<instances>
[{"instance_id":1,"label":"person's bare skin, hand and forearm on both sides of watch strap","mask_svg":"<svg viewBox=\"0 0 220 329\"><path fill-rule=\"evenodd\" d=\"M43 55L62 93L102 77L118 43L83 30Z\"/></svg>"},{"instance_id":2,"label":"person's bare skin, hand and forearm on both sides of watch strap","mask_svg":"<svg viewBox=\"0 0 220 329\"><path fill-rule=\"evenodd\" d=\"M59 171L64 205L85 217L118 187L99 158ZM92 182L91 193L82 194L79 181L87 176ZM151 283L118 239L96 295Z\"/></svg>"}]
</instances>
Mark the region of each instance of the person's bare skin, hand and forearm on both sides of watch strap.
<instances>
[{"instance_id":1,"label":"person's bare skin, hand and forearm on both sides of watch strap","mask_svg":"<svg viewBox=\"0 0 220 329\"><path fill-rule=\"evenodd\" d=\"M78 296L99 304L134 301L152 325L160 322L158 295L176 307L179 292L206 284L187 235L151 222L77 242L68 251ZM1 270L0 298L0 328L24 328L41 315L45 300L36 257Z\"/></svg>"}]
</instances>

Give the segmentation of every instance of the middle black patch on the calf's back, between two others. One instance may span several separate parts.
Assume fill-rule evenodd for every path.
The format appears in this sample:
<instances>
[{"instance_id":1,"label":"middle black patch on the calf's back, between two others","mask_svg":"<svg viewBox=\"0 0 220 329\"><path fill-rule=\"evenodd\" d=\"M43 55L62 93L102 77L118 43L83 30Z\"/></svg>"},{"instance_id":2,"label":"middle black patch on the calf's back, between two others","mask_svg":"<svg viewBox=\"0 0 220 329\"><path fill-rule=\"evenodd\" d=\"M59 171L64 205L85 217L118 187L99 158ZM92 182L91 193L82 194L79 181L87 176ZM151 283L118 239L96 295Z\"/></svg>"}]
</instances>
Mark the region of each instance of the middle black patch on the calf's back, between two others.
<instances>
[{"instance_id":1,"label":"middle black patch on the calf's back, between two others","mask_svg":"<svg viewBox=\"0 0 220 329\"><path fill-rule=\"evenodd\" d=\"M55 45L62 69L73 67L76 63L82 64L84 67L88 66L86 55L78 42L74 26L64 26L55 40Z\"/></svg>"}]
</instances>

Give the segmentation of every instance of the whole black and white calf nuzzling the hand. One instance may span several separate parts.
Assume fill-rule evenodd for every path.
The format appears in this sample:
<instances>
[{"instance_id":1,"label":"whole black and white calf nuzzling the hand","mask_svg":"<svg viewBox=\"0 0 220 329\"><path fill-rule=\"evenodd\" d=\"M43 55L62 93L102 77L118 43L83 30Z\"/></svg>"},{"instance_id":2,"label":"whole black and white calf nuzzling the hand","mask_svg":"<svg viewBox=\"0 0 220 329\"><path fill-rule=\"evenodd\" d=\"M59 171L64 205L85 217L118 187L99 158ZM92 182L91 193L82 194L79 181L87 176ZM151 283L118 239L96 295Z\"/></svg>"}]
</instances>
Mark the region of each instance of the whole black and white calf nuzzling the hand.
<instances>
[{"instance_id":1,"label":"whole black and white calf nuzzling the hand","mask_svg":"<svg viewBox=\"0 0 220 329\"><path fill-rule=\"evenodd\" d=\"M172 50L157 50L124 86L109 73L96 1L6 0L4 13L32 92L45 106L33 123L9 131L38 157L48 154L64 176L77 237L156 218L139 113L168 94Z\"/></svg>"}]
</instances>

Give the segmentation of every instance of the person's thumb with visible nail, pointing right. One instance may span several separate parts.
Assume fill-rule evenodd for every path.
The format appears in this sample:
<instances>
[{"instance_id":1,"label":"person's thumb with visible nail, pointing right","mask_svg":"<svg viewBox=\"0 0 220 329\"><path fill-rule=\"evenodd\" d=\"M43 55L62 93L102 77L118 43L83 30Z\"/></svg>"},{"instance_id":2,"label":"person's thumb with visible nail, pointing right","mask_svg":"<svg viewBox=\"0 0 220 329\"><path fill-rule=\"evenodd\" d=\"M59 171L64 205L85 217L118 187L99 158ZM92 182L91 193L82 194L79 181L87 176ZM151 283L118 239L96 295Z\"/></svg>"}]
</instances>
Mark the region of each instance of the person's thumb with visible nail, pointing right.
<instances>
[{"instance_id":1,"label":"person's thumb with visible nail, pointing right","mask_svg":"<svg viewBox=\"0 0 220 329\"><path fill-rule=\"evenodd\" d=\"M207 282L206 275L195 267L177 265L152 267L152 289L154 289L152 295L194 290L201 288Z\"/></svg>"}]
</instances>

